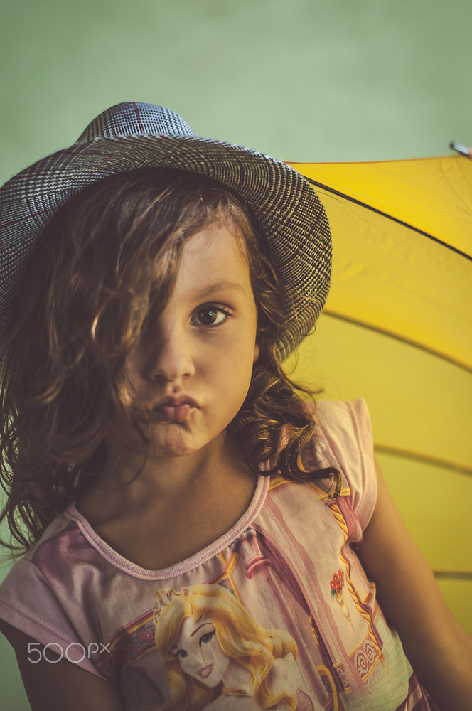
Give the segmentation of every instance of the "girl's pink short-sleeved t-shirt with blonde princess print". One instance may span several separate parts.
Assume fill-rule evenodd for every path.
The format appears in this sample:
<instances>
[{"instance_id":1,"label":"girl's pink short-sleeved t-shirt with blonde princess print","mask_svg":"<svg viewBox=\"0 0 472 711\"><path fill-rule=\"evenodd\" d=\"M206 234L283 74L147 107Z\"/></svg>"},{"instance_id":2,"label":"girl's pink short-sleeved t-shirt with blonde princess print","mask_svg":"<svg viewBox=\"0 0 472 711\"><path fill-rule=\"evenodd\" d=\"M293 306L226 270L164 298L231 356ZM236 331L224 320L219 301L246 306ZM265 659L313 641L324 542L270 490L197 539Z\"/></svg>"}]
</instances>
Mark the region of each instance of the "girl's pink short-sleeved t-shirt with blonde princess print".
<instances>
[{"instance_id":1,"label":"girl's pink short-sleeved t-shirt with blonde princess print","mask_svg":"<svg viewBox=\"0 0 472 711\"><path fill-rule=\"evenodd\" d=\"M125 560L69 506L0 586L0 616L46 646L32 663L62 653L129 711L436 708L355 555L376 498L365 404L318 402L316 419L304 456L340 471L340 496L261 475L230 531L165 570Z\"/></svg>"}]
</instances>

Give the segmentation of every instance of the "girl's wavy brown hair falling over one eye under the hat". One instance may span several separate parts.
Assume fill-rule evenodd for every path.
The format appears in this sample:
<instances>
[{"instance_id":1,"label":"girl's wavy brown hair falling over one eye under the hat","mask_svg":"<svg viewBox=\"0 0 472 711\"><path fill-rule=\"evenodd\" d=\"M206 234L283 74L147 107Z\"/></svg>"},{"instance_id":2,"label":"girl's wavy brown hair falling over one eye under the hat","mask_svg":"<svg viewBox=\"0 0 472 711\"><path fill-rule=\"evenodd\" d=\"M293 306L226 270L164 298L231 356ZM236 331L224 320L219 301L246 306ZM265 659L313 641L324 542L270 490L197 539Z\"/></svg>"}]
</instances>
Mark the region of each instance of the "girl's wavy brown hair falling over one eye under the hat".
<instances>
[{"instance_id":1,"label":"girl's wavy brown hair falling over one eye under the hat","mask_svg":"<svg viewBox=\"0 0 472 711\"><path fill-rule=\"evenodd\" d=\"M0 480L8 495L1 519L16 541L4 542L11 550L28 550L100 473L117 410L146 439L144 406L124 365L166 305L183 244L212 223L245 240L258 311L260 357L230 434L254 472L270 461L267 474L295 481L330 473L300 464L315 424L296 392L310 393L289 380L277 359L288 296L245 205L192 173L122 173L65 205L24 276L28 289L18 301L0 380Z\"/></svg>"}]
</instances>

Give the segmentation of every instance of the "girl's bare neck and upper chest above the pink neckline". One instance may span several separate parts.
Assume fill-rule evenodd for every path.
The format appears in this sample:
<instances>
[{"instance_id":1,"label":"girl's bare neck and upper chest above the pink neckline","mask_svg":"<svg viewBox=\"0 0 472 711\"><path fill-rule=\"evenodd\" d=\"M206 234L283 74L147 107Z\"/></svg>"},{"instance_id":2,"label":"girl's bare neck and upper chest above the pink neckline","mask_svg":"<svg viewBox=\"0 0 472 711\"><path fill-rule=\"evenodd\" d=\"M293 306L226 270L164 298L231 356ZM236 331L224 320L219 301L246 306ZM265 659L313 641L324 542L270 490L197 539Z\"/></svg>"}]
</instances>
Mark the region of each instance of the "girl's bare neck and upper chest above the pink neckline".
<instances>
[{"instance_id":1,"label":"girl's bare neck and upper chest above the pink neckline","mask_svg":"<svg viewBox=\"0 0 472 711\"><path fill-rule=\"evenodd\" d=\"M144 463L142 457L110 457L77 508L120 555L160 570L227 533L247 510L256 485L236 444L217 440L191 456Z\"/></svg>"}]
</instances>

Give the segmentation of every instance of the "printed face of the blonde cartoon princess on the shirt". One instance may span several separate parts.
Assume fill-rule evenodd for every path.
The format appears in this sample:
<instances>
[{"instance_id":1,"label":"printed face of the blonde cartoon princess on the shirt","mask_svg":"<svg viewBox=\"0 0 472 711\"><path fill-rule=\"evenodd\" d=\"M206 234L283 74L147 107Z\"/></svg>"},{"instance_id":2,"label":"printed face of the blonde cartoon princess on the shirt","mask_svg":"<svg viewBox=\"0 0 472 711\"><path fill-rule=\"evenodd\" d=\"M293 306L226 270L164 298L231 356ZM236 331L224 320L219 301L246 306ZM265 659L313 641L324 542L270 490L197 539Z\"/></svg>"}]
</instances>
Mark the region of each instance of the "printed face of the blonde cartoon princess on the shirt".
<instances>
[{"instance_id":1,"label":"printed face of the blonde cartoon princess on the shirt","mask_svg":"<svg viewBox=\"0 0 472 711\"><path fill-rule=\"evenodd\" d=\"M213 622L208 618L184 619L176 643L170 649L181 670L210 688L225 676L230 658L222 651Z\"/></svg>"}]
</instances>

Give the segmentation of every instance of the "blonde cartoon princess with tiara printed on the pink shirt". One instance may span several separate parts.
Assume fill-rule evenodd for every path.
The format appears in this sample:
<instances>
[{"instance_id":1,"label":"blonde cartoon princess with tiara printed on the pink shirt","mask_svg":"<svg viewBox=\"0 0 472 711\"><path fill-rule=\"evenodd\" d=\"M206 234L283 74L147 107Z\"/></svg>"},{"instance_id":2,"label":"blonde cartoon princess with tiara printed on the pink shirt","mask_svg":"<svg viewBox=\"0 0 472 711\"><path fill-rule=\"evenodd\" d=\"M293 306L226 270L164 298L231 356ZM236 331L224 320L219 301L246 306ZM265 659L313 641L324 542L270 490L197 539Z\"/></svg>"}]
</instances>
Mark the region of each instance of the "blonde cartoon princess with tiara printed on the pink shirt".
<instances>
[{"instance_id":1,"label":"blonde cartoon princess with tiara printed on the pink shirt","mask_svg":"<svg viewBox=\"0 0 472 711\"><path fill-rule=\"evenodd\" d=\"M301 675L288 632L259 626L218 584L161 590L156 602L156 645L171 688L163 710L296 711Z\"/></svg>"}]
</instances>

